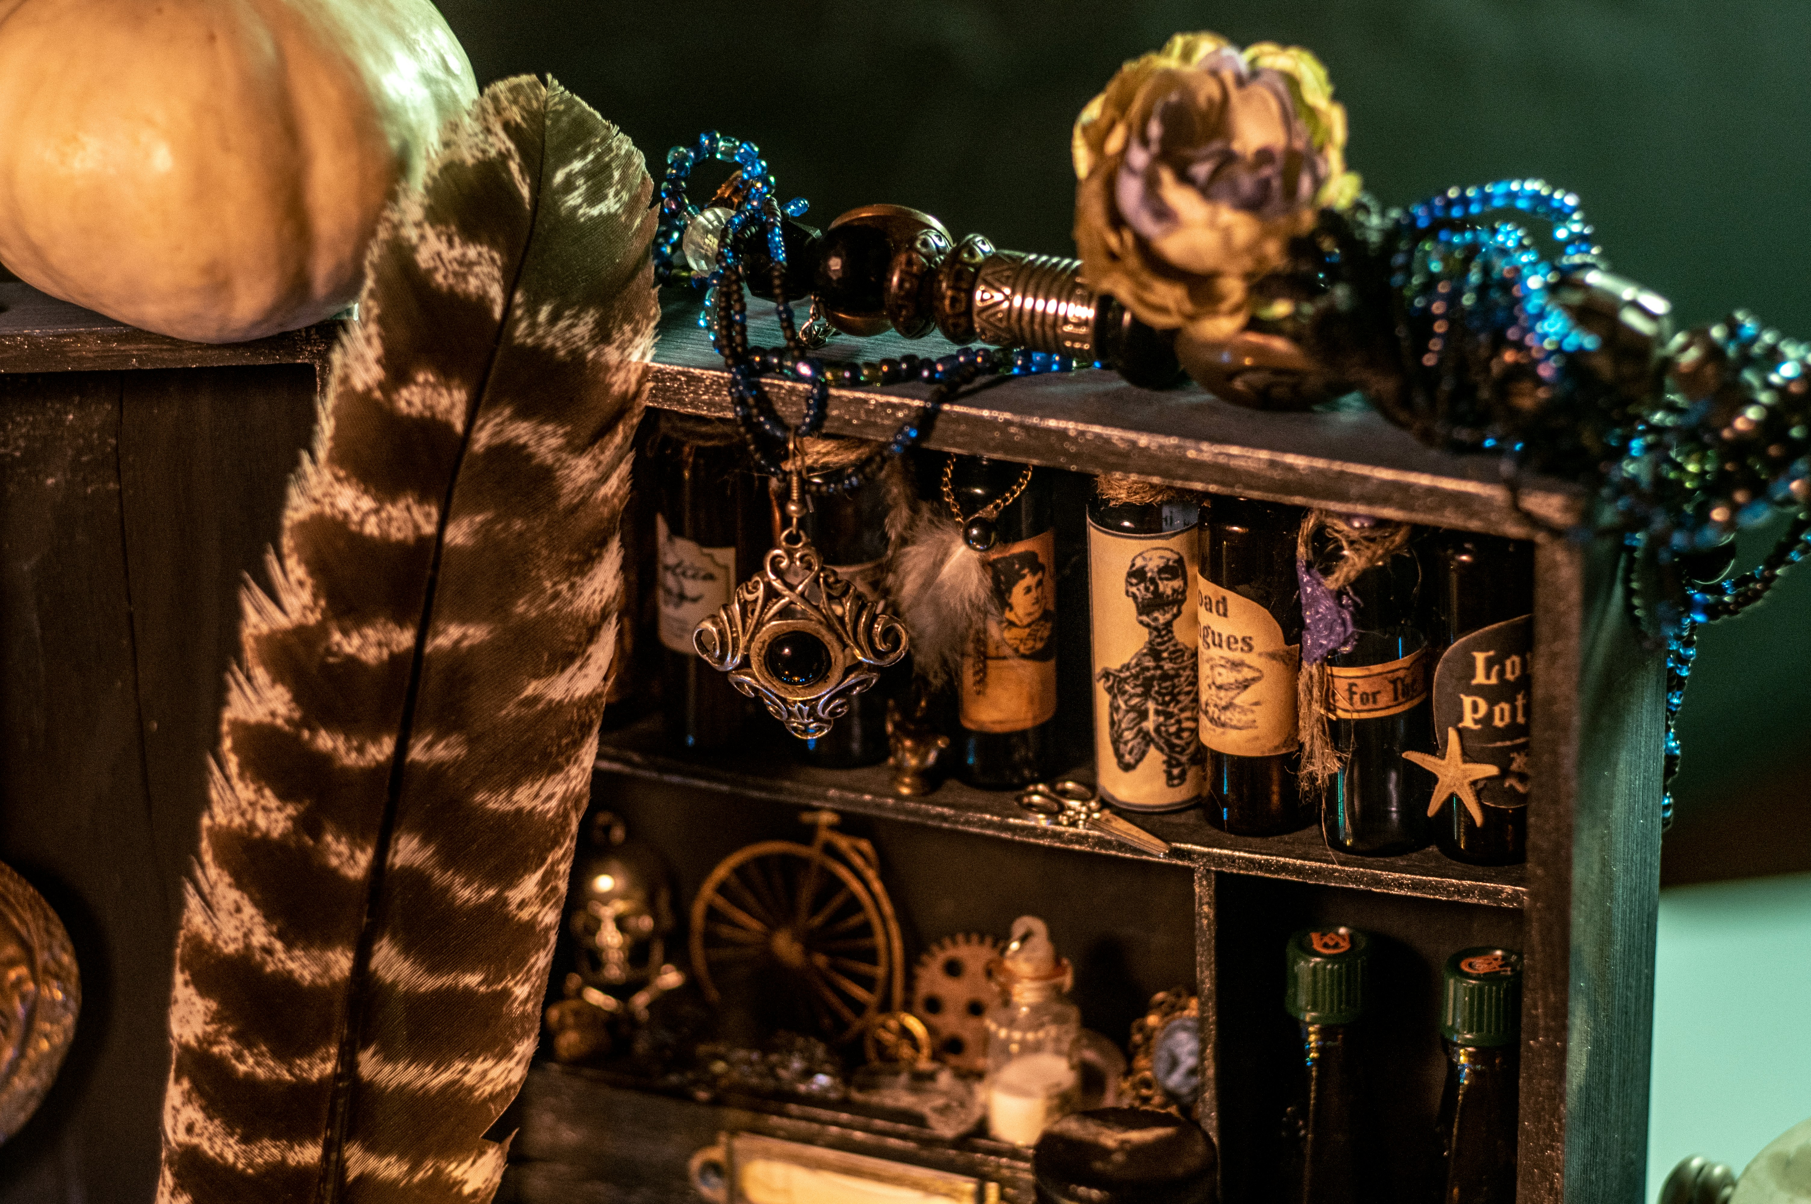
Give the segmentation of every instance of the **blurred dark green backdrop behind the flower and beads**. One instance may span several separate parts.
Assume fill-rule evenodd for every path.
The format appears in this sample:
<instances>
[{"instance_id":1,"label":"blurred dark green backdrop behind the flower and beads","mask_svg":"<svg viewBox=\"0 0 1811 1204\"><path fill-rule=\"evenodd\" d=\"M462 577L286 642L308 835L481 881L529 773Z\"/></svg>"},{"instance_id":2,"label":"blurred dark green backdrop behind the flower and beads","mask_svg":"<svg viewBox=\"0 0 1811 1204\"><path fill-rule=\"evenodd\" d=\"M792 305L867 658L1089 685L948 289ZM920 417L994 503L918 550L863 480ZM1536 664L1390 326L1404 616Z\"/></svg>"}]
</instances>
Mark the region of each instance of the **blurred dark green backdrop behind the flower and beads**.
<instances>
[{"instance_id":1,"label":"blurred dark green backdrop behind the flower and beads","mask_svg":"<svg viewBox=\"0 0 1811 1204\"><path fill-rule=\"evenodd\" d=\"M1387 203L1541 176L1576 190L1614 266L1681 324L1748 306L1811 335L1811 5L599 4L438 0L480 83L551 72L656 170L701 129L750 138L815 215L913 205L958 234L1072 253L1068 127L1119 62L1181 29L1311 47ZM1666 878L1811 869L1811 569L1706 632Z\"/></svg>"}]
</instances>

